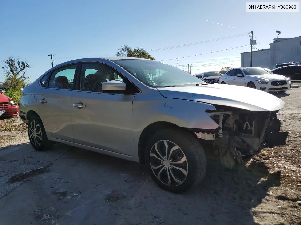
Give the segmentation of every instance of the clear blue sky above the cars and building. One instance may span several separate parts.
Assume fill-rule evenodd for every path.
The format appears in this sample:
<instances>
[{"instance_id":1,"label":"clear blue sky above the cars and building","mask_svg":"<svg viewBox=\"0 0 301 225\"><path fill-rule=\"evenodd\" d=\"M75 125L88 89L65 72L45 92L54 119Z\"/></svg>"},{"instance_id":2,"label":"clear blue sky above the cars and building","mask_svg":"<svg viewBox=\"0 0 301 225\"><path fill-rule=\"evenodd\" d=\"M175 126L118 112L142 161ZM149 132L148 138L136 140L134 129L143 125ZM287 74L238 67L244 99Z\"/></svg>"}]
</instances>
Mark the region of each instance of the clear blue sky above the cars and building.
<instances>
[{"instance_id":1,"label":"clear blue sky above the cars and building","mask_svg":"<svg viewBox=\"0 0 301 225\"><path fill-rule=\"evenodd\" d=\"M241 0L1 0L0 59L25 58L32 66L27 75L33 82L51 67L49 54L56 54L56 65L87 56L114 56L125 44L150 50L251 30L262 46L256 47L262 49L269 48L277 37L276 30L281 31L279 38L300 36L300 28L293 26L299 21L300 12L246 13L246 1ZM248 45L249 40L243 35L149 53L157 60L166 60ZM240 52L247 51L250 46L181 58L178 65L183 69L191 61L193 74L227 65L239 67ZM176 65L175 59L163 62ZM3 71L0 81L2 75Z\"/></svg>"}]
</instances>

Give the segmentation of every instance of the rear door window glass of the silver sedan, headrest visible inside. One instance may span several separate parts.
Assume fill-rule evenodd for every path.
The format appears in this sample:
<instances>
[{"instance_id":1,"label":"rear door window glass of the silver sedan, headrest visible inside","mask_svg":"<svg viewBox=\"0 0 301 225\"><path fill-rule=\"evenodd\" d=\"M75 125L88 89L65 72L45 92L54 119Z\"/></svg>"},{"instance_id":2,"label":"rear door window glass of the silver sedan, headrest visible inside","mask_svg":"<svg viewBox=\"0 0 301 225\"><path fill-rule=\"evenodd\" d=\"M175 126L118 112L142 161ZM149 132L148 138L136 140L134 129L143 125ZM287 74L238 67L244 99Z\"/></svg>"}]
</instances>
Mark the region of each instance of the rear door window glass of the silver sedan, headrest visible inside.
<instances>
[{"instance_id":1,"label":"rear door window glass of the silver sedan, headrest visible inside","mask_svg":"<svg viewBox=\"0 0 301 225\"><path fill-rule=\"evenodd\" d=\"M48 88L72 89L76 64L61 67L51 74Z\"/></svg>"}]
</instances>

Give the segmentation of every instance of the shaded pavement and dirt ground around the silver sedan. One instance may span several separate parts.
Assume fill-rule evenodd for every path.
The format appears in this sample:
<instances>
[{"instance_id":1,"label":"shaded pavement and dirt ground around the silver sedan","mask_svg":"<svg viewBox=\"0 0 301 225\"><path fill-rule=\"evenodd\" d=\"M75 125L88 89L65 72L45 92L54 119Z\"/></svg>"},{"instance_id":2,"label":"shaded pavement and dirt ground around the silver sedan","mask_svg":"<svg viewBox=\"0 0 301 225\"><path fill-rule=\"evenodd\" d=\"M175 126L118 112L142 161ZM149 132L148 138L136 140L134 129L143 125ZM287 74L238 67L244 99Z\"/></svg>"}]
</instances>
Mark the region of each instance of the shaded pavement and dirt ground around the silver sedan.
<instances>
[{"instance_id":1,"label":"shaded pavement and dirt ground around the silver sedan","mask_svg":"<svg viewBox=\"0 0 301 225\"><path fill-rule=\"evenodd\" d=\"M181 195L134 162L64 144L36 152L20 118L2 119L1 224L301 224L301 88L275 95L286 103L287 145L262 150L242 172L209 161L200 186Z\"/></svg>"}]
</instances>

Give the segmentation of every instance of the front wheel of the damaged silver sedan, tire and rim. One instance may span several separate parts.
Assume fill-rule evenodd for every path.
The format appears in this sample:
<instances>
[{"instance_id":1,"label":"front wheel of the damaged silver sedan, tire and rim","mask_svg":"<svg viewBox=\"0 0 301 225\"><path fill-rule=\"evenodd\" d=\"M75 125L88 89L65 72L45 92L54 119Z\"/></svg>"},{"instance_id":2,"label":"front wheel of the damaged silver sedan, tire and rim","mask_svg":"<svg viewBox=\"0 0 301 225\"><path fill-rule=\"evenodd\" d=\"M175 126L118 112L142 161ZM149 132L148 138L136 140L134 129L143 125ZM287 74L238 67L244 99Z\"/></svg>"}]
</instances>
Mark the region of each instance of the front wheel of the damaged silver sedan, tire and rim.
<instances>
[{"instance_id":1,"label":"front wheel of the damaged silver sedan, tire and rim","mask_svg":"<svg viewBox=\"0 0 301 225\"><path fill-rule=\"evenodd\" d=\"M173 147L175 149L171 151ZM180 161L182 163L178 164ZM188 131L170 128L158 131L148 140L145 163L154 182L173 193L184 192L199 184L207 167L205 152L197 138Z\"/></svg>"}]
</instances>

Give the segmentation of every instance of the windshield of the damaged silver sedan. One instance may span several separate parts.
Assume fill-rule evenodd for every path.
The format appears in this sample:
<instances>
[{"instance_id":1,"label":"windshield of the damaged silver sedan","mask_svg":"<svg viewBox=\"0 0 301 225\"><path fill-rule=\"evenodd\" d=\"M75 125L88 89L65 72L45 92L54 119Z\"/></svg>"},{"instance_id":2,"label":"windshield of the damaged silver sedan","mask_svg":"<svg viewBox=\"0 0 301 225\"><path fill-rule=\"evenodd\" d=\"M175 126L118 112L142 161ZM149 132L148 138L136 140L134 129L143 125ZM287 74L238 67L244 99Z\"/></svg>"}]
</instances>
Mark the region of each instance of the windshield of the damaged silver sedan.
<instances>
[{"instance_id":1,"label":"windshield of the damaged silver sedan","mask_svg":"<svg viewBox=\"0 0 301 225\"><path fill-rule=\"evenodd\" d=\"M144 59L120 59L114 62L151 87L195 85L203 80L171 65Z\"/></svg>"}]
</instances>

